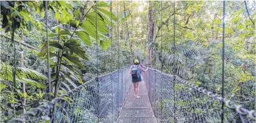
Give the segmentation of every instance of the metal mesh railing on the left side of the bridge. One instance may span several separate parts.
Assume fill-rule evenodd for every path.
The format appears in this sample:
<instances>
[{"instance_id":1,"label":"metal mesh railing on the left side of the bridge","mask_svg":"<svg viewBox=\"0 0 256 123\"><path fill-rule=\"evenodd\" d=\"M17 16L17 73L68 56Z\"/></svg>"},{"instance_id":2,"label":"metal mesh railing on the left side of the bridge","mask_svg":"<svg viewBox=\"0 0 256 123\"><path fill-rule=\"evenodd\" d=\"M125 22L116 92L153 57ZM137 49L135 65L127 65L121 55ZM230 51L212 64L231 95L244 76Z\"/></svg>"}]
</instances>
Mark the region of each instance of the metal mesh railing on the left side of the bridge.
<instances>
[{"instance_id":1,"label":"metal mesh railing on the left side of the bridge","mask_svg":"<svg viewBox=\"0 0 256 123\"><path fill-rule=\"evenodd\" d=\"M129 70L94 78L8 122L114 122L129 91Z\"/></svg>"}]
</instances>

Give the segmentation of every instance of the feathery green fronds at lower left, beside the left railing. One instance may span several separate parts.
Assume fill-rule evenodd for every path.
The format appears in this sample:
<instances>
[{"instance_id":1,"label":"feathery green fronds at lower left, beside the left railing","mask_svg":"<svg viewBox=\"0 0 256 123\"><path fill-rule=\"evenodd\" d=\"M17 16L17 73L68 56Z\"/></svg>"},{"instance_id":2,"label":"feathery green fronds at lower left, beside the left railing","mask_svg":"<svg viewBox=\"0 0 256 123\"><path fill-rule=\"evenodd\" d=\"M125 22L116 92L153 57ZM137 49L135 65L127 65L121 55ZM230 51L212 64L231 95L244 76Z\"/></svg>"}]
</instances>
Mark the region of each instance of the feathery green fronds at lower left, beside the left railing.
<instances>
[{"instance_id":1,"label":"feathery green fronds at lower left, beside the left railing","mask_svg":"<svg viewBox=\"0 0 256 123\"><path fill-rule=\"evenodd\" d=\"M27 101L38 98L38 96L21 92L19 90L21 83L26 83L26 85L38 89L45 89L46 86L38 82L45 80L47 80L47 77L40 72L22 67L16 67L16 72L14 72L13 66L1 62L1 102L5 102L4 105L9 105L5 107L4 110L8 110L9 114L12 114L14 110L15 116L15 108L24 105L23 100L21 100L22 98L26 98ZM42 96L40 98L42 98Z\"/></svg>"}]
</instances>

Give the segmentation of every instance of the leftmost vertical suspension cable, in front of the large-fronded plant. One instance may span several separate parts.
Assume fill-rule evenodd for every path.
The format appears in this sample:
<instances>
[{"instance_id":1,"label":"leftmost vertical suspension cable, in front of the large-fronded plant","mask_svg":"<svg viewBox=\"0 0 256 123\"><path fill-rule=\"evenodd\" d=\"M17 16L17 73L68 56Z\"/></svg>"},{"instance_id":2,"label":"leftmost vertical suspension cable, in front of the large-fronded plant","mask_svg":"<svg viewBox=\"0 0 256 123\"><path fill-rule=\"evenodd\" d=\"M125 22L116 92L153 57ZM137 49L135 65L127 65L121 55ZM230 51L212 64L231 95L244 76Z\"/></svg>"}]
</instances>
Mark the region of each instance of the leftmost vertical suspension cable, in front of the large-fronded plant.
<instances>
[{"instance_id":1,"label":"leftmost vertical suspension cable, in front of the large-fronded plant","mask_svg":"<svg viewBox=\"0 0 256 123\"><path fill-rule=\"evenodd\" d=\"M48 66L48 86L49 86L49 101L52 100L51 98L51 70L50 70L50 53L49 53L49 40L48 40L48 5L47 1L45 2L45 7L46 7L46 41L47 41L47 66Z\"/></svg>"}]
</instances>

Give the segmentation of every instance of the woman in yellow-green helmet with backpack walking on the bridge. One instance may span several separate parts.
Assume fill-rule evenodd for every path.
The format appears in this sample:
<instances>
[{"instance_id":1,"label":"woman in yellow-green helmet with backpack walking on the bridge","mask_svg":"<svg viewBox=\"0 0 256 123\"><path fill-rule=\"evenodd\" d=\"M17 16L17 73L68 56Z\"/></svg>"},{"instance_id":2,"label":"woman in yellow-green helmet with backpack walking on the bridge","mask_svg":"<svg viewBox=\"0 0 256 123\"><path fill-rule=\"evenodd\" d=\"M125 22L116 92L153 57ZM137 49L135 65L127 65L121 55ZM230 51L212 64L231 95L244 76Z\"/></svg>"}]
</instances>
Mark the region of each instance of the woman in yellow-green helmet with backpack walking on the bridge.
<instances>
[{"instance_id":1,"label":"woman in yellow-green helmet with backpack walking on the bridge","mask_svg":"<svg viewBox=\"0 0 256 123\"><path fill-rule=\"evenodd\" d=\"M140 87L140 82L142 81L141 79L141 71L142 72L146 72L148 70L148 68L146 70L144 70L140 65L139 65L140 61L138 61L137 59L134 61L134 64L131 66L131 70L130 70L130 74L132 76L132 83L133 83L133 87L134 87L134 92L135 92L135 97L140 98L138 96L138 88Z\"/></svg>"}]
</instances>

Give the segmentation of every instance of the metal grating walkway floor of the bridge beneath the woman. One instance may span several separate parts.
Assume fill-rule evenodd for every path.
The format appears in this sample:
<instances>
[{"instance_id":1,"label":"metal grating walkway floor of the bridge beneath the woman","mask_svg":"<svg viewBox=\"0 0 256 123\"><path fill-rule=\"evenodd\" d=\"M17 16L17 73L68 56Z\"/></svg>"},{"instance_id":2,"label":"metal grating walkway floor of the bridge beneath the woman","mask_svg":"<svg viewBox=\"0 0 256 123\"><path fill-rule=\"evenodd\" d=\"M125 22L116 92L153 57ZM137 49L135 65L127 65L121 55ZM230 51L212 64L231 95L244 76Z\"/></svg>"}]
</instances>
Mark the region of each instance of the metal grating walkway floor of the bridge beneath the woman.
<instances>
[{"instance_id":1,"label":"metal grating walkway floor of the bridge beneath the woman","mask_svg":"<svg viewBox=\"0 0 256 123\"><path fill-rule=\"evenodd\" d=\"M140 83L140 90L138 92L138 96L140 98L136 98L134 96L134 88L131 85L129 92L127 93L125 102L118 116L117 122L131 122L131 123L155 123L157 120L155 119L154 112L151 107L151 103L149 102L147 88L142 81Z\"/></svg>"}]
</instances>

